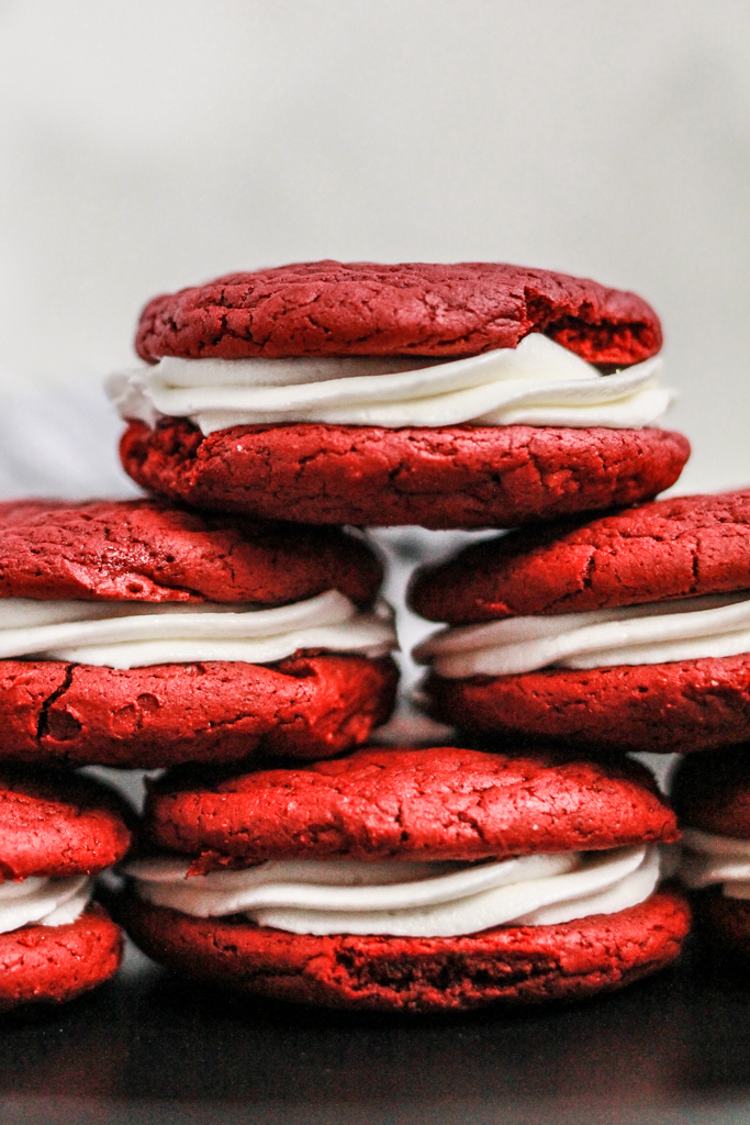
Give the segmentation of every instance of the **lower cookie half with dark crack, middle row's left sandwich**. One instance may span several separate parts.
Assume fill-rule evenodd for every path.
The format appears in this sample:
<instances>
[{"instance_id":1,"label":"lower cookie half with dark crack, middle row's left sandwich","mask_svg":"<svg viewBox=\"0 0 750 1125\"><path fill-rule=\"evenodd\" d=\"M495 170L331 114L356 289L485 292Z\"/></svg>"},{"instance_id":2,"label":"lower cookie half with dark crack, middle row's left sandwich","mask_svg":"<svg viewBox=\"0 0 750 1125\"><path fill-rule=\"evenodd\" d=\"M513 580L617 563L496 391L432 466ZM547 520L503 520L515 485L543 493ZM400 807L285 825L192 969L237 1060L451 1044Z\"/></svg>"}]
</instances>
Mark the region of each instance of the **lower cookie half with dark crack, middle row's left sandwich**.
<instances>
[{"instance_id":1,"label":"lower cookie half with dark crack, middle row's left sandwich","mask_svg":"<svg viewBox=\"0 0 750 1125\"><path fill-rule=\"evenodd\" d=\"M107 668L0 662L0 760L157 770L252 754L318 758L391 714L390 657L297 656Z\"/></svg>"}]
</instances>

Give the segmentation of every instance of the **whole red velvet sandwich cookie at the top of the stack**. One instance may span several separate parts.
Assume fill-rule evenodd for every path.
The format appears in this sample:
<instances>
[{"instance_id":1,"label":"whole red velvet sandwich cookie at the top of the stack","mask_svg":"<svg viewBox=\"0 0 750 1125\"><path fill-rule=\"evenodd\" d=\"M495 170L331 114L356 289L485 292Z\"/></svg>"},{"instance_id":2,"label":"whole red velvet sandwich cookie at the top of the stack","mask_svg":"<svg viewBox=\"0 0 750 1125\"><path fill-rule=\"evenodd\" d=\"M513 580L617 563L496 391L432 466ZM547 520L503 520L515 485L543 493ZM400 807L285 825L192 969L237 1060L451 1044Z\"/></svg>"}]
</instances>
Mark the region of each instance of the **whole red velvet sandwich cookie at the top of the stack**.
<instances>
[{"instance_id":1,"label":"whole red velvet sandwich cookie at the top of the stack","mask_svg":"<svg viewBox=\"0 0 750 1125\"><path fill-rule=\"evenodd\" d=\"M264 519L515 526L669 487L659 320L516 266L323 261L156 297L112 377L126 470Z\"/></svg>"}]
</instances>

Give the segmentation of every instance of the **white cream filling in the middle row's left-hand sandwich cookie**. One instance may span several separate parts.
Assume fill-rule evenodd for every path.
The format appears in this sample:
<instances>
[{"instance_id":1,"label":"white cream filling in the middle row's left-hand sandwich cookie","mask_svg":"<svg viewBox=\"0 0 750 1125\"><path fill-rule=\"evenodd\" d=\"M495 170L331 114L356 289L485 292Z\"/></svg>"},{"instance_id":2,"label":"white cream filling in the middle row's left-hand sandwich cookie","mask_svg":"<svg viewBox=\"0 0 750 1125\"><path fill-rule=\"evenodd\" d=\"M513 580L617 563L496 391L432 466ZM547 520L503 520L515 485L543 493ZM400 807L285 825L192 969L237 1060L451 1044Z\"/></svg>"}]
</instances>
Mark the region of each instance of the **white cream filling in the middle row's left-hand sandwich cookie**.
<instances>
[{"instance_id":1,"label":"white cream filling in the middle row's left-hand sandwich cookie","mask_svg":"<svg viewBox=\"0 0 750 1125\"><path fill-rule=\"evenodd\" d=\"M397 648L394 613L371 613L337 591L274 610L150 602L0 601L0 659L34 656L141 668L193 660L270 664L298 649L385 656Z\"/></svg>"}]
</instances>

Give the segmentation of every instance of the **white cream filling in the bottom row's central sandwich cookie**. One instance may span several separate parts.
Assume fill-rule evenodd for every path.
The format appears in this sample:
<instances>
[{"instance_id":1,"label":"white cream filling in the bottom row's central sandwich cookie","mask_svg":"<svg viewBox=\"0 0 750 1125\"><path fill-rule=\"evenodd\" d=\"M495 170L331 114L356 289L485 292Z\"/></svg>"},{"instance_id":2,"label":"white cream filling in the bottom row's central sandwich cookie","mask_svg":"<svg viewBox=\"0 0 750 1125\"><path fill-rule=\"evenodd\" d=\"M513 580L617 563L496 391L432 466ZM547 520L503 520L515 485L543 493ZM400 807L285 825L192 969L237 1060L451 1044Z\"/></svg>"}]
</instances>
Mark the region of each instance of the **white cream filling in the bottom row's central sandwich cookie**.
<instances>
[{"instance_id":1,"label":"white cream filling in the bottom row's central sandwich cookie","mask_svg":"<svg viewBox=\"0 0 750 1125\"><path fill-rule=\"evenodd\" d=\"M141 898L198 918L244 914L293 934L450 937L624 910L651 894L659 862L657 847L629 847L481 864L283 860L190 876L183 858L160 856L123 870Z\"/></svg>"}]
</instances>

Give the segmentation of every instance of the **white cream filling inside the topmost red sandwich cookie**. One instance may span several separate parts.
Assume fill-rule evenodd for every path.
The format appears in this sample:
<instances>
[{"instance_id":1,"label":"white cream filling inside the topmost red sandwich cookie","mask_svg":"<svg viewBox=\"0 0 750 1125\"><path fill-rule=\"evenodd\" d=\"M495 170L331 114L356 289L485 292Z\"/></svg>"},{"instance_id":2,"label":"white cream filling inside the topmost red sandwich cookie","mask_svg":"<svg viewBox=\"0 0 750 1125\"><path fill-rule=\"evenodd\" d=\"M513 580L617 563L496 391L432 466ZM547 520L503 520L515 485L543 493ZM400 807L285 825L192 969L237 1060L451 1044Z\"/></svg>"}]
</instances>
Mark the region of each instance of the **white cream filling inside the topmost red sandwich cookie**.
<instances>
[{"instance_id":1,"label":"white cream filling inside the topmost red sandwich cookie","mask_svg":"<svg viewBox=\"0 0 750 1125\"><path fill-rule=\"evenodd\" d=\"M188 417L205 434L233 425L608 426L640 429L672 394L656 357L603 376L541 335L459 360L343 356L315 359L175 359L124 371L107 393L124 418Z\"/></svg>"}]
</instances>

